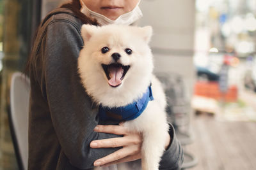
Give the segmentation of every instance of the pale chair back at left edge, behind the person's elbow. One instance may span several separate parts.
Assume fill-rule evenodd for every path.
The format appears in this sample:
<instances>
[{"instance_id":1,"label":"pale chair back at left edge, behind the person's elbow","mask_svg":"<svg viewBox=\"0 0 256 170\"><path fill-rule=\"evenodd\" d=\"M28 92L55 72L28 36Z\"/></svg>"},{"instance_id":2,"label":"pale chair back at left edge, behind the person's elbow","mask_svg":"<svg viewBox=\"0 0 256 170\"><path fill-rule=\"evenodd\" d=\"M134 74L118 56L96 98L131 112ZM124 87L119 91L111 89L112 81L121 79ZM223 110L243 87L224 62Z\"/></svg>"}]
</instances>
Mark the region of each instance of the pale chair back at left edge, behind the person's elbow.
<instances>
[{"instance_id":1,"label":"pale chair back at left edge, behind the person's elbow","mask_svg":"<svg viewBox=\"0 0 256 170\"><path fill-rule=\"evenodd\" d=\"M19 169L28 169L28 113L30 81L27 76L13 73L10 87L10 129Z\"/></svg>"}]
</instances>

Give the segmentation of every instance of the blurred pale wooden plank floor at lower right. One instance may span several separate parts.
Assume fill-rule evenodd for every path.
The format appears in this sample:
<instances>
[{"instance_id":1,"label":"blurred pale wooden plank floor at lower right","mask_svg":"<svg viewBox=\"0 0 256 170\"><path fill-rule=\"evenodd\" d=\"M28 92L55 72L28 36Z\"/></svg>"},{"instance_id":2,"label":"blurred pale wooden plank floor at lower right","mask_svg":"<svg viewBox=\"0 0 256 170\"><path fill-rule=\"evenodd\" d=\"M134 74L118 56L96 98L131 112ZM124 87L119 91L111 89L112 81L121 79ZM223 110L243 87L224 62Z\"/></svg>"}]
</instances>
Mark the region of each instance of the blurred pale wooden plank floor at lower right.
<instances>
[{"instance_id":1,"label":"blurred pale wooden plank floor at lower right","mask_svg":"<svg viewBox=\"0 0 256 170\"><path fill-rule=\"evenodd\" d=\"M256 123L220 122L209 115L195 115L191 121L193 143L187 152L198 159L189 170L256 169Z\"/></svg>"}]
</instances>

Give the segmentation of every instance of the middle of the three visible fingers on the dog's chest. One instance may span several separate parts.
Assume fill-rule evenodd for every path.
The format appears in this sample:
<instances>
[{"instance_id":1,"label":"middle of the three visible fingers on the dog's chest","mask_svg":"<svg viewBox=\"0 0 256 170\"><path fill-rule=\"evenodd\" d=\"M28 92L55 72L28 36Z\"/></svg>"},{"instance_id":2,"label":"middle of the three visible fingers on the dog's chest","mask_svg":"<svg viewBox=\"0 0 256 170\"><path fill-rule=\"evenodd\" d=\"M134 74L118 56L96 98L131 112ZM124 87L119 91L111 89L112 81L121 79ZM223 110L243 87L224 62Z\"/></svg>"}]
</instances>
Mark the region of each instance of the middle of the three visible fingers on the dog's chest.
<instances>
[{"instance_id":1,"label":"middle of the three visible fingers on the dog's chest","mask_svg":"<svg viewBox=\"0 0 256 170\"><path fill-rule=\"evenodd\" d=\"M91 148L116 148L128 145L140 145L142 143L141 136L138 134L130 134L120 138L108 138L95 140L90 143Z\"/></svg>"}]
</instances>

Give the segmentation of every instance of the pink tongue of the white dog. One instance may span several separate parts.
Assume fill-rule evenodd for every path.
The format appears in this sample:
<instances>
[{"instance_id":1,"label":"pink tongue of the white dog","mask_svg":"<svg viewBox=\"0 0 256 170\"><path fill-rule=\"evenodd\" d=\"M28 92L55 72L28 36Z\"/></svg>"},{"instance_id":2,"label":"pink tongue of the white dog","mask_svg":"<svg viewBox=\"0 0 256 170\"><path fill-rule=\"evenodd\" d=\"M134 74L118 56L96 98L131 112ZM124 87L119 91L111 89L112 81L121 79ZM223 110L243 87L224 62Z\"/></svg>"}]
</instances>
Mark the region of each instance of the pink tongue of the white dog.
<instances>
[{"instance_id":1,"label":"pink tongue of the white dog","mask_svg":"<svg viewBox=\"0 0 256 170\"><path fill-rule=\"evenodd\" d=\"M110 67L108 71L110 77L108 80L109 85L114 87L120 85L120 83L122 83L122 67Z\"/></svg>"}]
</instances>

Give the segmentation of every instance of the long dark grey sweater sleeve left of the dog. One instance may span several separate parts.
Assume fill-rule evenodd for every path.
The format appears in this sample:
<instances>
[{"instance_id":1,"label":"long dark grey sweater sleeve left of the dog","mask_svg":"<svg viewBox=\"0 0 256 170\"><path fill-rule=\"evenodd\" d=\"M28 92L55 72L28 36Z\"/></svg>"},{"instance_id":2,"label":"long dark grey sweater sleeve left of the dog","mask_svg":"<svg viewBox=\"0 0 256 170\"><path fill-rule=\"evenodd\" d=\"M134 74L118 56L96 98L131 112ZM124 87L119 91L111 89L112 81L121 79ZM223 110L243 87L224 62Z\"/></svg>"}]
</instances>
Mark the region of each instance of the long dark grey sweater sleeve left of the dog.
<instances>
[{"instance_id":1,"label":"long dark grey sweater sleeve left of the dog","mask_svg":"<svg viewBox=\"0 0 256 170\"><path fill-rule=\"evenodd\" d=\"M118 148L90 148L91 141L116 135L93 131L98 124L97 110L93 110L77 73L77 57L82 46L79 29L72 22L54 20L47 26L40 49L45 81L43 93L61 150L73 166L90 169L96 159Z\"/></svg>"}]
</instances>

